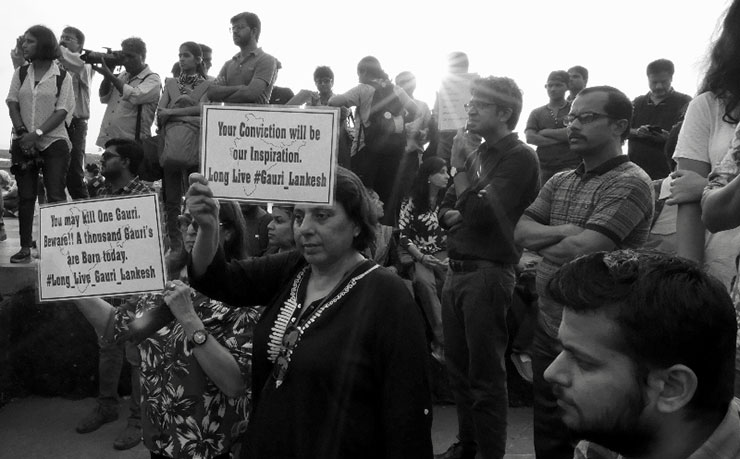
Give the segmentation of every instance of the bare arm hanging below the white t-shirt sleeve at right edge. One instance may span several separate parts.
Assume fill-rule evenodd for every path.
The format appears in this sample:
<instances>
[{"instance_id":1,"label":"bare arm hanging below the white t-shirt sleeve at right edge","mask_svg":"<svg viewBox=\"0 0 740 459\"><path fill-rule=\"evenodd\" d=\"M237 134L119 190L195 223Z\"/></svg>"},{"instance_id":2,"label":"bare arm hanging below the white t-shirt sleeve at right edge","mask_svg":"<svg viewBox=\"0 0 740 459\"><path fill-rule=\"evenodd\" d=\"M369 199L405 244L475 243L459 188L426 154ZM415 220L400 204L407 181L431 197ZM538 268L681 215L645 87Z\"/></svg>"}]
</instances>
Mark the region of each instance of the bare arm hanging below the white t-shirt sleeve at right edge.
<instances>
[{"instance_id":1,"label":"bare arm hanging below the white t-shirt sleeve at right edge","mask_svg":"<svg viewBox=\"0 0 740 459\"><path fill-rule=\"evenodd\" d=\"M707 177L710 165L703 161L678 158L678 169L695 172L701 177ZM704 232L706 228L701 220L699 200L705 185L706 179L704 179L703 186L694 185L695 189L686 193L685 199L678 203L678 217L676 218L676 253L698 263L704 261ZM673 191L672 188L671 194L673 194Z\"/></svg>"}]
</instances>

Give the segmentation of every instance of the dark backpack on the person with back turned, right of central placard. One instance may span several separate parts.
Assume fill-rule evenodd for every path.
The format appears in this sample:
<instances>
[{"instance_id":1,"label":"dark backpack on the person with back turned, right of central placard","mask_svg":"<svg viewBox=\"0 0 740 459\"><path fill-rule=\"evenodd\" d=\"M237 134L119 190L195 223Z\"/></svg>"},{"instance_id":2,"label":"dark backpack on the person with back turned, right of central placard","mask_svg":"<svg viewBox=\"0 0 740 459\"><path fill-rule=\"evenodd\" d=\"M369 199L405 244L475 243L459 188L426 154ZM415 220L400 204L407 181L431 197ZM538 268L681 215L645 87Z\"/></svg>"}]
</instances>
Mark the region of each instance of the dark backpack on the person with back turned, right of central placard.
<instances>
[{"instance_id":1,"label":"dark backpack on the person with back turned, right of central placard","mask_svg":"<svg viewBox=\"0 0 740 459\"><path fill-rule=\"evenodd\" d=\"M365 146L381 154L400 154L406 146L403 103L391 82L373 81L368 84L375 88L375 92L368 126L362 125Z\"/></svg>"}]
</instances>

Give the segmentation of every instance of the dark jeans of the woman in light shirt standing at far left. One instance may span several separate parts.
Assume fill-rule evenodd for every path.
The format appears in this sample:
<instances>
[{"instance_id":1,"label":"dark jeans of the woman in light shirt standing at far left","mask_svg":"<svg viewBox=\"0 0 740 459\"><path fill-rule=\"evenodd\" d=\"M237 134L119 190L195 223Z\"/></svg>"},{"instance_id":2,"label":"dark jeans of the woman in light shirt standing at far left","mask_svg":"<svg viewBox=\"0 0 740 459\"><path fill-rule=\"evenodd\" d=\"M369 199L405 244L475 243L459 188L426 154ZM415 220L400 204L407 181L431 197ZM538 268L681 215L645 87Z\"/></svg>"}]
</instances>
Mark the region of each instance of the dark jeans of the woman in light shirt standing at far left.
<instances>
[{"instance_id":1,"label":"dark jeans of the woman in light shirt standing at far left","mask_svg":"<svg viewBox=\"0 0 740 459\"><path fill-rule=\"evenodd\" d=\"M13 163L22 161L22 152L11 152ZM67 168L69 167L69 148L64 140L57 140L41 152L43 165L28 166L23 171L16 171L18 182L18 226L21 236L21 247L31 247L33 243L33 212L38 197L39 172L44 174L44 187L48 202L66 201L64 192Z\"/></svg>"}]
</instances>

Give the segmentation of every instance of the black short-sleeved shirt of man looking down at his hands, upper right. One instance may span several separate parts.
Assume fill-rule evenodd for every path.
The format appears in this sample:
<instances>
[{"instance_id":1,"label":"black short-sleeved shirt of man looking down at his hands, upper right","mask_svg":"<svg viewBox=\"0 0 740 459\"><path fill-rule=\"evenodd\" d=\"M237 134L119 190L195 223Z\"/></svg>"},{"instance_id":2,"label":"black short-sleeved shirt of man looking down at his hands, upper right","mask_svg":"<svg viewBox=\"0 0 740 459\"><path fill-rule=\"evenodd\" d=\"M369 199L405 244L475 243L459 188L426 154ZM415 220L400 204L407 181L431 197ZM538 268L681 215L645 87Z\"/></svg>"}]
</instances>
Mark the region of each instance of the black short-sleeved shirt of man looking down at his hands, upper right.
<instances>
[{"instance_id":1,"label":"black short-sleeved shirt of man looking down at his hands, upper right","mask_svg":"<svg viewBox=\"0 0 740 459\"><path fill-rule=\"evenodd\" d=\"M690 101L690 96L678 91L671 91L658 104L650 98L650 93L642 95L632 102L632 128L648 125L670 131L681 117L681 109ZM629 140L628 154L630 161L643 168L650 178L657 180L667 177L671 172L664 149L665 140L635 137Z\"/></svg>"}]
</instances>

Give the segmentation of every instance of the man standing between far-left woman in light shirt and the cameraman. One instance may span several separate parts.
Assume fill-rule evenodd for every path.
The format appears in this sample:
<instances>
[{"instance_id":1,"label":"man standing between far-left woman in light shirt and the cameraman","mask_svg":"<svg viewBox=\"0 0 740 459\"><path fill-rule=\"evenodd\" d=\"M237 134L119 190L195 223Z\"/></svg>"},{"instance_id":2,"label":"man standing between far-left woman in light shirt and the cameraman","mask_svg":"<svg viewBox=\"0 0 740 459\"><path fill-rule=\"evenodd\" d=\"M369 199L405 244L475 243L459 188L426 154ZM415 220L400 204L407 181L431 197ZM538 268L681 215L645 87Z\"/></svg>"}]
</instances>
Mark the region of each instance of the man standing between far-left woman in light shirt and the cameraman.
<instances>
[{"instance_id":1,"label":"man standing between far-left woman in light shirt and the cameraman","mask_svg":"<svg viewBox=\"0 0 740 459\"><path fill-rule=\"evenodd\" d=\"M72 75L75 94L75 110L72 121L67 125L69 140L72 142L69 169L67 171L67 191L72 199L89 197L85 186L83 170L85 166L85 142L87 140L87 120L90 118L90 85L93 70L90 64L80 59L85 46L85 34L76 27L67 26L59 38L59 63Z\"/></svg>"}]
</instances>

